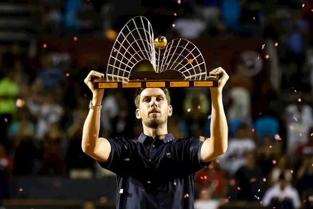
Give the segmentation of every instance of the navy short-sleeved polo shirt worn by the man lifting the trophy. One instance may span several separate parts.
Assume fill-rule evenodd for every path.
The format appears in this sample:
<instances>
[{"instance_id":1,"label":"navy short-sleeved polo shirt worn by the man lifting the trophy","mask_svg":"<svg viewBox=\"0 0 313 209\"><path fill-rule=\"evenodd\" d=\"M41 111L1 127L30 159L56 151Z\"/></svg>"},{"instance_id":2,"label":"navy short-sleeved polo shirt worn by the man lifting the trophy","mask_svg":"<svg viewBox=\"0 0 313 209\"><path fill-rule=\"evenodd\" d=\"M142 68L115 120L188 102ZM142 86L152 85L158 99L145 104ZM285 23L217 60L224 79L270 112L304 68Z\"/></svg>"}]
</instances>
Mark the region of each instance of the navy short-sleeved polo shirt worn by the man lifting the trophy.
<instances>
[{"instance_id":1,"label":"navy short-sleeved polo shirt worn by the man lifting the trophy","mask_svg":"<svg viewBox=\"0 0 313 209\"><path fill-rule=\"evenodd\" d=\"M117 209L193 209L195 173L210 164L200 161L203 142L143 133L108 141L110 160L99 164L117 176Z\"/></svg>"}]
</instances>

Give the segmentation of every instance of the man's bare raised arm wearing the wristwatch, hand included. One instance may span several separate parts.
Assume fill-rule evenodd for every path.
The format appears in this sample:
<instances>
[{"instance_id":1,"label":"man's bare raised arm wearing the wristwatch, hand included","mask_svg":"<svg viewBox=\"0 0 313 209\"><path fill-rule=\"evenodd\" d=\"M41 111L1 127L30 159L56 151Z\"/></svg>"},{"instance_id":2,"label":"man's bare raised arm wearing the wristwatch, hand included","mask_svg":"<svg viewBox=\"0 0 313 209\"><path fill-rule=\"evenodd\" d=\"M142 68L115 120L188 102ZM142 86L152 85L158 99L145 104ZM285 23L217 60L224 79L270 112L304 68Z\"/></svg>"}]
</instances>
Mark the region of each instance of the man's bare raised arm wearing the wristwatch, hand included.
<instances>
[{"instance_id":1,"label":"man's bare raised arm wearing the wristwatch, hand included","mask_svg":"<svg viewBox=\"0 0 313 209\"><path fill-rule=\"evenodd\" d=\"M101 78L104 74L100 72L90 71L84 82L92 91L92 105L101 105L103 99L103 89L93 88L93 78ZM101 162L110 160L111 145L105 138L99 138L100 131L100 114L101 111L90 109L83 128L83 138L81 147L87 155Z\"/></svg>"}]
</instances>

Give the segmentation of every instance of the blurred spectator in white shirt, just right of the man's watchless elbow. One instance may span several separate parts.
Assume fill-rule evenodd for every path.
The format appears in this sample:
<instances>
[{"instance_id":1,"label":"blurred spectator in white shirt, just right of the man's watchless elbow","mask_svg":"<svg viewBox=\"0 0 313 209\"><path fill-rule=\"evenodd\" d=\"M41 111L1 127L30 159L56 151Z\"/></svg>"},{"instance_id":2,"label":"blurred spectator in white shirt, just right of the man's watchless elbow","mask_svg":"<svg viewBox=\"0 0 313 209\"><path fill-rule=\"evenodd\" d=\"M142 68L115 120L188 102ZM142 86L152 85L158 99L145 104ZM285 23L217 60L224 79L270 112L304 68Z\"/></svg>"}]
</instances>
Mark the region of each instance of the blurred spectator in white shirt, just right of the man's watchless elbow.
<instances>
[{"instance_id":1,"label":"blurred spectator in white shirt, just right of the man's watchless elbow","mask_svg":"<svg viewBox=\"0 0 313 209\"><path fill-rule=\"evenodd\" d=\"M246 162L245 152L254 151L255 142L249 138L248 126L242 124L238 127L236 138L228 142L228 149L221 159L221 167L230 174L235 174L237 170Z\"/></svg>"}]
</instances>

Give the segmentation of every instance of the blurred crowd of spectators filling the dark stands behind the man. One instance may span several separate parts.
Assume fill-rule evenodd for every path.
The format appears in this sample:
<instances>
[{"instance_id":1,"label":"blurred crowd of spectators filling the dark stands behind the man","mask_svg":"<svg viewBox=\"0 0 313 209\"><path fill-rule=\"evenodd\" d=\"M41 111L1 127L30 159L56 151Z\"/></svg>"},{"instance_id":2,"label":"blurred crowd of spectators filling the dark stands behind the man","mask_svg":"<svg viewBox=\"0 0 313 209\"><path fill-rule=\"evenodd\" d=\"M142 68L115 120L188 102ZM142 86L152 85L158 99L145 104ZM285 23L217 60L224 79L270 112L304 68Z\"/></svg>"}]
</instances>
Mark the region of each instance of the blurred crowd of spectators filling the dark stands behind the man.
<instances>
[{"instance_id":1,"label":"blurred crowd of spectators filling the dark stands behind the man","mask_svg":"<svg viewBox=\"0 0 313 209\"><path fill-rule=\"evenodd\" d=\"M243 55L232 71L226 69L230 75L223 92L228 150L197 173L196 208L202 209L203 201L217 208L221 199L223 203L262 201L277 209L313 208L310 2L8 1L20 2L33 5L31 15L42 18L30 31L29 45L3 41L0 46L0 199L10 198L8 182L14 177L114 175L81 149L91 99L83 80L90 70L105 72L105 66L91 59L88 67L80 67L71 54L36 55L32 43L40 35L101 35L105 40L108 29L118 32L139 14L156 22L155 29L168 39L260 38L269 51L264 57ZM132 13L129 8L117 9L121 2L134 8ZM160 24L163 20L170 22L168 27ZM223 67L219 60L214 64ZM170 94L174 114L168 131L176 138L210 137L209 89L177 88ZM133 95L132 90L105 91L100 136L140 135Z\"/></svg>"}]
</instances>

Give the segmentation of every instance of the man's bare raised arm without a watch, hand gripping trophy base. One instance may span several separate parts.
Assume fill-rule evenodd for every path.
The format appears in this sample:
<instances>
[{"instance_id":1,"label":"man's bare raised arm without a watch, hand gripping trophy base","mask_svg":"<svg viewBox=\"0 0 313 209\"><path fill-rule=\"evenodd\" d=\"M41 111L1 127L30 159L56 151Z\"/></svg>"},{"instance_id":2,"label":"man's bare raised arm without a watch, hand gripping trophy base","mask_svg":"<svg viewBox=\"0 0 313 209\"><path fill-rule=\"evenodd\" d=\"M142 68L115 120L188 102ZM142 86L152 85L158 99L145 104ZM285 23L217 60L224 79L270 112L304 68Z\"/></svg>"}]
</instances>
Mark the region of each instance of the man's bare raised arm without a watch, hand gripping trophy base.
<instances>
[{"instance_id":1,"label":"man's bare raised arm without a watch, hand gripping trophy base","mask_svg":"<svg viewBox=\"0 0 313 209\"><path fill-rule=\"evenodd\" d=\"M222 89L229 76L221 67L211 71L210 75L222 77L218 80L218 88L211 88L211 137L203 142L200 152L200 159L204 163L224 154L228 147L228 125L223 107Z\"/></svg>"}]
</instances>

